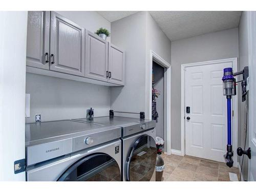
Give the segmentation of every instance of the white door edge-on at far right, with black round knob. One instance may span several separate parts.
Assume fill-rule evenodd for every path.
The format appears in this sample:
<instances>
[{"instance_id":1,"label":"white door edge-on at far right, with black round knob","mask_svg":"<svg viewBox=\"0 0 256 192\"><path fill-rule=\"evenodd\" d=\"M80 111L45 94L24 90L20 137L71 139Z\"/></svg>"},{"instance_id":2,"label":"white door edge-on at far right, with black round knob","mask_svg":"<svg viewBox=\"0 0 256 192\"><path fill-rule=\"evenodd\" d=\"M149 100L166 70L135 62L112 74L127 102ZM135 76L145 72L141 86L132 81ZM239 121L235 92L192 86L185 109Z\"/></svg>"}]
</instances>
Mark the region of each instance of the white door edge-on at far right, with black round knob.
<instances>
[{"instance_id":1,"label":"white door edge-on at far right, with black round knob","mask_svg":"<svg viewBox=\"0 0 256 192\"><path fill-rule=\"evenodd\" d=\"M248 178L256 181L256 12L249 12L249 160Z\"/></svg>"}]
</instances>

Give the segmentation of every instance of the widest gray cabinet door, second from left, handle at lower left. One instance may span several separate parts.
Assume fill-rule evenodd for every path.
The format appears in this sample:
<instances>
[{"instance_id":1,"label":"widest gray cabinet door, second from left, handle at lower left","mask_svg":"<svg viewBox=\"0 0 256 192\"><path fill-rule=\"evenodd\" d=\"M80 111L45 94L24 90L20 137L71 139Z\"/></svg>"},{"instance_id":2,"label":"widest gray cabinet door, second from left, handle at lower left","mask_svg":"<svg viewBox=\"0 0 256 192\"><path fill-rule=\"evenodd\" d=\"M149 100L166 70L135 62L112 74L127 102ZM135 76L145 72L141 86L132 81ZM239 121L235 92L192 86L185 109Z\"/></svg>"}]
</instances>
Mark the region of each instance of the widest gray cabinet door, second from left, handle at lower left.
<instances>
[{"instance_id":1,"label":"widest gray cabinet door, second from left, handle at lower left","mask_svg":"<svg viewBox=\"0 0 256 192\"><path fill-rule=\"evenodd\" d=\"M50 70L84 76L85 29L51 12Z\"/></svg>"}]
</instances>

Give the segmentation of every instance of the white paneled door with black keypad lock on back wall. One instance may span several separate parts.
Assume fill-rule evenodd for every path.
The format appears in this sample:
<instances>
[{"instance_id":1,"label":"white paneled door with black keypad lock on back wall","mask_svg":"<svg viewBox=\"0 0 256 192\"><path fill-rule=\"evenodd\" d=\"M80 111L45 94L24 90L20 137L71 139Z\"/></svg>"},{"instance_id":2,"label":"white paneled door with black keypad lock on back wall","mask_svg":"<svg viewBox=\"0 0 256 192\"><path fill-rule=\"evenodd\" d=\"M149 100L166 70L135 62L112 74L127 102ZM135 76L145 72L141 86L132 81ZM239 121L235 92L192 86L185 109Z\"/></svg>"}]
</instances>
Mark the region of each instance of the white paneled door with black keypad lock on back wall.
<instances>
[{"instance_id":1,"label":"white paneled door with black keypad lock on back wall","mask_svg":"<svg viewBox=\"0 0 256 192\"><path fill-rule=\"evenodd\" d=\"M221 78L223 69L228 67L232 62L185 68L186 155L224 162L227 106ZM187 106L190 113L186 113Z\"/></svg>"}]
</instances>

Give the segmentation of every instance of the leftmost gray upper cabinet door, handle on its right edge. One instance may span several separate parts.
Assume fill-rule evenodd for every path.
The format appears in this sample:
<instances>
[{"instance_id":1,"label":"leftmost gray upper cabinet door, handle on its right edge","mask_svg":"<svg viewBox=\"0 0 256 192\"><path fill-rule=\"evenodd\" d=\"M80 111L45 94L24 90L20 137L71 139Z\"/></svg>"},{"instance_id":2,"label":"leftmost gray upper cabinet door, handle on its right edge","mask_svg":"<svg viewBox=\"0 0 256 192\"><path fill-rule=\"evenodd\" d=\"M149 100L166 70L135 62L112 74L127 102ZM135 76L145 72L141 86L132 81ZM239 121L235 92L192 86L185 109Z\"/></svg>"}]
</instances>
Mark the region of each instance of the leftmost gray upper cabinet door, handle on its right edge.
<instances>
[{"instance_id":1,"label":"leftmost gray upper cabinet door, handle on its right edge","mask_svg":"<svg viewBox=\"0 0 256 192\"><path fill-rule=\"evenodd\" d=\"M27 66L49 69L50 11L29 11Z\"/></svg>"}]
</instances>

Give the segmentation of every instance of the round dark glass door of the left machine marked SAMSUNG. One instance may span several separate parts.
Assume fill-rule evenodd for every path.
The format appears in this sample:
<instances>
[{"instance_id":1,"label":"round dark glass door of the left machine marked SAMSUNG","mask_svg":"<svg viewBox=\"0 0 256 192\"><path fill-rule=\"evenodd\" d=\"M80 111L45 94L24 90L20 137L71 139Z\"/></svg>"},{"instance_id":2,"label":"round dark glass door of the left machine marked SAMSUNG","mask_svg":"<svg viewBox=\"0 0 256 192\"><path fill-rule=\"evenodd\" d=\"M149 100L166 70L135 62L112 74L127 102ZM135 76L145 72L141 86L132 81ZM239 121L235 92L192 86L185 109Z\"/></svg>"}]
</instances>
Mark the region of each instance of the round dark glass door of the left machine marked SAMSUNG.
<instances>
[{"instance_id":1,"label":"round dark glass door of the left machine marked SAMSUNG","mask_svg":"<svg viewBox=\"0 0 256 192\"><path fill-rule=\"evenodd\" d=\"M120 168L111 156L92 154L75 162L58 181L121 181Z\"/></svg>"}]
</instances>

